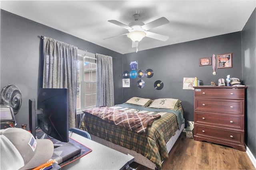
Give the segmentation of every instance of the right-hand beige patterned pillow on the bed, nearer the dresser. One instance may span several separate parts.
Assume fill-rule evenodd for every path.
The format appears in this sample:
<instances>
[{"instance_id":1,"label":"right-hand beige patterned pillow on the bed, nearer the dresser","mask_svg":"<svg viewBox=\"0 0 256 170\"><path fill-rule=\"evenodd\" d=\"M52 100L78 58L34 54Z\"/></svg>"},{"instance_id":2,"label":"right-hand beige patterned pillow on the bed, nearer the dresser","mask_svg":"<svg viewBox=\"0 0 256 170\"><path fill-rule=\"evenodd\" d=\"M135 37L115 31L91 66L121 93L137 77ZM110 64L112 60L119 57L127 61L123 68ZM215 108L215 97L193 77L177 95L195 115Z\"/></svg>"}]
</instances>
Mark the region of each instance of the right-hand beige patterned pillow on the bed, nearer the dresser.
<instances>
[{"instance_id":1,"label":"right-hand beige patterned pillow on the bed, nearer the dresser","mask_svg":"<svg viewBox=\"0 0 256 170\"><path fill-rule=\"evenodd\" d=\"M178 99L162 98L154 100L148 107L177 110L180 106L180 103L181 101Z\"/></svg>"}]
</instances>

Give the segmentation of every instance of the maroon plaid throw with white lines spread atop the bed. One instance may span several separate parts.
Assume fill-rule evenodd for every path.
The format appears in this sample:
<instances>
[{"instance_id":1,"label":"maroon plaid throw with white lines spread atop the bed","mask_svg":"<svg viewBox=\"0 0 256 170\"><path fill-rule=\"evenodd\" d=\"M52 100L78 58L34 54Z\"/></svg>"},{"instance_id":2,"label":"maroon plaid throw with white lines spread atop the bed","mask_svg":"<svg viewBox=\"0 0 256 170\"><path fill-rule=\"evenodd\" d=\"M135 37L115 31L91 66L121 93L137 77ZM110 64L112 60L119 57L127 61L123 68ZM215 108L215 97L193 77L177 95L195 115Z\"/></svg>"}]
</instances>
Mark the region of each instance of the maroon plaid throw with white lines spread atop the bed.
<instances>
[{"instance_id":1,"label":"maroon plaid throw with white lines spread atop the bed","mask_svg":"<svg viewBox=\"0 0 256 170\"><path fill-rule=\"evenodd\" d=\"M151 126L154 120L161 117L161 115L123 111L106 106L87 109L86 112L139 134L146 133L147 127Z\"/></svg>"}]
</instances>

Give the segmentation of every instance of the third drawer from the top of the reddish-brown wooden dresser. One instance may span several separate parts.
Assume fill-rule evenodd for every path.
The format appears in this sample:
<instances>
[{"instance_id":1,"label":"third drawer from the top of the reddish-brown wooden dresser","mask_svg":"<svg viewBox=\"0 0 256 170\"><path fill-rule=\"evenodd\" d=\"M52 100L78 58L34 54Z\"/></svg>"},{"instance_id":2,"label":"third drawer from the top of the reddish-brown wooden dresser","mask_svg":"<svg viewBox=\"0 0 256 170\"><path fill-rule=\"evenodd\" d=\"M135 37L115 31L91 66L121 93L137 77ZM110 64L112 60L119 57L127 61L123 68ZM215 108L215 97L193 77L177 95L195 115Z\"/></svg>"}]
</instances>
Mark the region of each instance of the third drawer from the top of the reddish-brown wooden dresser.
<instances>
[{"instance_id":1,"label":"third drawer from the top of the reddish-brown wooden dresser","mask_svg":"<svg viewBox=\"0 0 256 170\"><path fill-rule=\"evenodd\" d=\"M244 116L222 115L218 113L194 112L194 122L222 126L226 128L244 129Z\"/></svg>"}]
</instances>

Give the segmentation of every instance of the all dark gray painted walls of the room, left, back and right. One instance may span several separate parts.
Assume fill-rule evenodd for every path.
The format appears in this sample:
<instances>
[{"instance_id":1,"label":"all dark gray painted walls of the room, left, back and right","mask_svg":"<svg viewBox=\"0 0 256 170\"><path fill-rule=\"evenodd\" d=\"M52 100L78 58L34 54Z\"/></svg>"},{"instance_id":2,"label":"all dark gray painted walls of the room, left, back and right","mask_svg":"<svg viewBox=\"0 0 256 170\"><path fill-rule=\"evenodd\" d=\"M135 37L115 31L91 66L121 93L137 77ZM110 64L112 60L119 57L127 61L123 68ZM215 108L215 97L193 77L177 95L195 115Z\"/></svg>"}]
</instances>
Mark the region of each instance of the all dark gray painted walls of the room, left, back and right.
<instances>
[{"instance_id":1,"label":"all dark gray painted walls of the room, left, back and right","mask_svg":"<svg viewBox=\"0 0 256 170\"><path fill-rule=\"evenodd\" d=\"M254 113L256 109L255 15L254 10L242 32L121 55L1 10L0 88L2 89L8 84L14 84L20 88L23 100L16 120L18 127L28 124L28 99L37 98L38 88L42 86L41 35L75 45L92 53L116 58L113 59L115 104L123 103L134 96L151 99L178 98L182 100L186 120L194 119L194 91L182 89L183 78L197 76L204 85L208 85L211 81L217 83L218 78L226 79L226 75L230 74L231 77L240 78L248 86L245 141L256 157L256 131L254 130L254 121L256 120ZM225 53L232 53L233 67L216 69L216 76L212 75L212 66L198 65L199 58ZM138 77L130 79L130 88L122 88L122 74L125 70L130 71L129 63L131 61L138 61L138 69L151 68L154 71L152 78L142 78L146 82L142 89L137 87ZM162 90L154 88L156 80L161 80L164 83Z\"/></svg>"}]
</instances>

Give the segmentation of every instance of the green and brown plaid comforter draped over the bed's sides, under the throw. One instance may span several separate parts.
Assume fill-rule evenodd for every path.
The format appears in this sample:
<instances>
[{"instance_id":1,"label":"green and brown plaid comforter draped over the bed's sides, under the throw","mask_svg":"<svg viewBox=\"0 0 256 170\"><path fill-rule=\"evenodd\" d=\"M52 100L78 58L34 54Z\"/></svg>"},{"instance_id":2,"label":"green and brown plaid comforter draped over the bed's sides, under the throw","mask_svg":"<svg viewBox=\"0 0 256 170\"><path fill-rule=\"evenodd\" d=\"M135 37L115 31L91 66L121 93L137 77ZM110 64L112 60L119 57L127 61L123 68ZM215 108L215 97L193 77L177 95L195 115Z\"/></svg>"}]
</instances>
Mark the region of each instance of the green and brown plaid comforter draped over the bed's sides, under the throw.
<instances>
[{"instance_id":1,"label":"green and brown plaid comforter draped over the bed's sides, under the throw","mask_svg":"<svg viewBox=\"0 0 256 170\"><path fill-rule=\"evenodd\" d=\"M147 128L145 134L140 135L108 121L104 121L95 115L87 113L87 110L84 110L85 116L80 129L122 147L135 150L156 164L158 169L161 169L162 161L168 158L166 143L178 130L177 118L174 113L182 114L181 111L170 110L173 113L161 112L161 109L159 111L145 111L118 105L111 108L126 112L161 115L161 117Z\"/></svg>"}]
</instances>

